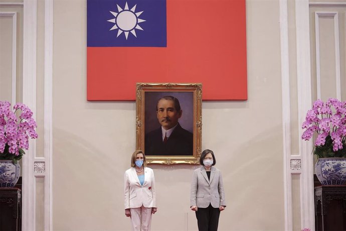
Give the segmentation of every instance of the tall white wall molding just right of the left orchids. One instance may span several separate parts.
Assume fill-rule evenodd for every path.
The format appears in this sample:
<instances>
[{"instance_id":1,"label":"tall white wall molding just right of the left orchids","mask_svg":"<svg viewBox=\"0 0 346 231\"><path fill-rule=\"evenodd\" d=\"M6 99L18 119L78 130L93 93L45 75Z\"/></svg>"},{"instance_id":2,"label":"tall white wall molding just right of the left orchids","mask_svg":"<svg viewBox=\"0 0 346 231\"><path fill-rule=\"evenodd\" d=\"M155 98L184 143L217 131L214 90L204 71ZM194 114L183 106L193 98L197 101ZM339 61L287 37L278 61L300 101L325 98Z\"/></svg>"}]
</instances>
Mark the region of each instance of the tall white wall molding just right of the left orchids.
<instances>
[{"instance_id":1,"label":"tall white wall molding just right of the left orchids","mask_svg":"<svg viewBox=\"0 0 346 231\"><path fill-rule=\"evenodd\" d=\"M23 158L23 231L36 230L36 178L44 178L43 229L53 230L53 0L45 0L44 14L44 157L36 157L36 142L31 139L30 149ZM23 102L32 109L35 118L37 0L24 0L23 36Z\"/></svg>"}]
</instances>

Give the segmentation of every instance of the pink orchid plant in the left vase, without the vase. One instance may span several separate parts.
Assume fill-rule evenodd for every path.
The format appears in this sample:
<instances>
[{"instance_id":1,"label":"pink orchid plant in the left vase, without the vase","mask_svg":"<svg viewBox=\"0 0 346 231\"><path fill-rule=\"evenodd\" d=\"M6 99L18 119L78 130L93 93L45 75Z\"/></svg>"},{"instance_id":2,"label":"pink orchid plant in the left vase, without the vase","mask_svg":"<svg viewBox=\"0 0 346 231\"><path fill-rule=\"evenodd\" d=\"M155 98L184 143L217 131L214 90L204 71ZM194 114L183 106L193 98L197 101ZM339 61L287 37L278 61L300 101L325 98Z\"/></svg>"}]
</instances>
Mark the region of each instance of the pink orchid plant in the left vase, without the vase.
<instances>
[{"instance_id":1,"label":"pink orchid plant in the left vase, without the vase","mask_svg":"<svg viewBox=\"0 0 346 231\"><path fill-rule=\"evenodd\" d=\"M11 103L0 101L0 160L12 160L15 164L22 159L29 149L29 137L38 137L33 112L23 103L16 103L11 110ZM20 110L19 118L16 112ZM19 113L18 113L19 114Z\"/></svg>"}]
</instances>

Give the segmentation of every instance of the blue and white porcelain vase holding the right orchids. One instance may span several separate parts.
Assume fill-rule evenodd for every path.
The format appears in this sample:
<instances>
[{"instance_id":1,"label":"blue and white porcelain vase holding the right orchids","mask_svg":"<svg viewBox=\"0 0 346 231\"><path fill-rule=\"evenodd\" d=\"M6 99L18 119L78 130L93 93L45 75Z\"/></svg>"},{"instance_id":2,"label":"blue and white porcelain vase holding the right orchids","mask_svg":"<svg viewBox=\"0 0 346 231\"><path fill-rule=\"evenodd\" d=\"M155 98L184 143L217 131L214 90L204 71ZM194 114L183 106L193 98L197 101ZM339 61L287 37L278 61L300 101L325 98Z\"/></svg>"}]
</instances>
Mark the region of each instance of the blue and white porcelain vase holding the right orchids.
<instances>
[{"instance_id":1,"label":"blue and white porcelain vase holding the right orchids","mask_svg":"<svg viewBox=\"0 0 346 231\"><path fill-rule=\"evenodd\" d=\"M315 172L322 185L346 184L346 158L319 158Z\"/></svg>"}]
</instances>

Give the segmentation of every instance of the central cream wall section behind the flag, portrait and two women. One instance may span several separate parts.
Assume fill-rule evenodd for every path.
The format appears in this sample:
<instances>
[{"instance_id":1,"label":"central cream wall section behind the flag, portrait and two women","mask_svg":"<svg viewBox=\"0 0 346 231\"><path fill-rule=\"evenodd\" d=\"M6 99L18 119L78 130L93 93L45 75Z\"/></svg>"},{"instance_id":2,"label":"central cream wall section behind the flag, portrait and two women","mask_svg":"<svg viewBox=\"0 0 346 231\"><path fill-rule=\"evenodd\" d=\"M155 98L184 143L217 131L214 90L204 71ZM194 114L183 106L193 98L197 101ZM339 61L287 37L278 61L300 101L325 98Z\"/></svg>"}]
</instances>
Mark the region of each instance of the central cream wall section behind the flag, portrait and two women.
<instances>
[{"instance_id":1,"label":"central cream wall section behind the flag, portrait and two women","mask_svg":"<svg viewBox=\"0 0 346 231\"><path fill-rule=\"evenodd\" d=\"M203 102L202 148L224 176L219 230L282 230L279 3L250 0L246 10L249 99ZM53 54L54 230L130 230L123 173L135 149L135 102L86 101L86 1L54 1ZM197 166L151 167L152 230L197 230L189 209Z\"/></svg>"}]
</instances>

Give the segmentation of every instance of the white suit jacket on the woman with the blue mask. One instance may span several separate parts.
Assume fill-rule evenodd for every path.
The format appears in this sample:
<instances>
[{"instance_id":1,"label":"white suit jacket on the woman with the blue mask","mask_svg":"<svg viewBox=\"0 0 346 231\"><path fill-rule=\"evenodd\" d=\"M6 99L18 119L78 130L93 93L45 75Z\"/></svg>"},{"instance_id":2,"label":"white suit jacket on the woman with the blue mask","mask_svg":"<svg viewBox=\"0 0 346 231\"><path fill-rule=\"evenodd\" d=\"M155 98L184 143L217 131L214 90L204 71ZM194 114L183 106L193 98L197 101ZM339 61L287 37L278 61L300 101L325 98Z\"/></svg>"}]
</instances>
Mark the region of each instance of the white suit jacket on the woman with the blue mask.
<instances>
[{"instance_id":1,"label":"white suit jacket on the woman with the blue mask","mask_svg":"<svg viewBox=\"0 0 346 231\"><path fill-rule=\"evenodd\" d=\"M130 168L124 176L125 209L156 208L156 192L154 172L151 168L144 167L144 183L140 185L136 170Z\"/></svg>"}]
</instances>

